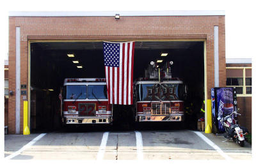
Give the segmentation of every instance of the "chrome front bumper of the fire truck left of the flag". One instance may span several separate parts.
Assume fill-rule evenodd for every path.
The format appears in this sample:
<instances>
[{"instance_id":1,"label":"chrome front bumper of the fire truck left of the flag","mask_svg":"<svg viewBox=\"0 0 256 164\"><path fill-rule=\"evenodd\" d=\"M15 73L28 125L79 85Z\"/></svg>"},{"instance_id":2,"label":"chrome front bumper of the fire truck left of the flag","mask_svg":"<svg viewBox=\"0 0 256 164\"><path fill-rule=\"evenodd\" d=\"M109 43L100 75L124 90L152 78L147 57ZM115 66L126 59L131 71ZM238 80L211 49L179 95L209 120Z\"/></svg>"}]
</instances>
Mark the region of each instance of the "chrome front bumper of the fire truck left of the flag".
<instances>
[{"instance_id":1,"label":"chrome front bumper of the fire truck left of the flag","mask_svg":"<svg viewBox=\"0 0 256 164\"><path fill-rule=\"evenodd\" d=\"M109 124L112 117L66 117L66 124Z\"/></svg>"}]
</instances>

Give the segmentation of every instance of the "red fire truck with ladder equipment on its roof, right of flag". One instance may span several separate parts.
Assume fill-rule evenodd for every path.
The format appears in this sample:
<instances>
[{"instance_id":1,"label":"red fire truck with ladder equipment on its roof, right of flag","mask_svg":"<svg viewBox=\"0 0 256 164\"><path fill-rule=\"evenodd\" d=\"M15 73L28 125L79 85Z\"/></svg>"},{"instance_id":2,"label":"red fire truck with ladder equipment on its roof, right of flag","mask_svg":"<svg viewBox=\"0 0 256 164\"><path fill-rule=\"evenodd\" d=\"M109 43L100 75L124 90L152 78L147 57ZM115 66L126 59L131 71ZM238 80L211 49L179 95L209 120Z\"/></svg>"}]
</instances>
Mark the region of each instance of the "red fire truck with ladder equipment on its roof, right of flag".
<instances>
[{"instance_id":1,"label":"red fire truck with ladder equipment on its roof, right of flag","mask_svg":"<svg viewBox=\"0 0 256 164\"><path fill-rule=\"evenodd\" d=\"M172 77L172 64L172 61L163 65L152 61L145 70L145 77L134 82L135 121L184 123L187 86L180 78Z\"/></svg>"}]
</instances>

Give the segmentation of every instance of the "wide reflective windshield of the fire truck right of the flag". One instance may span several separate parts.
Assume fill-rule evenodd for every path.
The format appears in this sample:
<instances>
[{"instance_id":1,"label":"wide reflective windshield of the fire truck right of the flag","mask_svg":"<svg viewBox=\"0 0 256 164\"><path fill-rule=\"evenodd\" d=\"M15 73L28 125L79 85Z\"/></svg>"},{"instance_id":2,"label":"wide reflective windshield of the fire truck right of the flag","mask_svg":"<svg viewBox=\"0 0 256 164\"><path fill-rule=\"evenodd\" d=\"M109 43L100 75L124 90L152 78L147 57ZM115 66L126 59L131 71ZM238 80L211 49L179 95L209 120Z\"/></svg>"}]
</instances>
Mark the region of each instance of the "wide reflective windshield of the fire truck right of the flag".
<instances>
[{"instance_id":1,"label":"wide reflective windshield of the fire truck right of the flag","mask_svg":"<svg viewBox=\"0 0 256 164\"><path fill-rule=\"evenodd\" d=\"M137 101L173 101L184 99L184 84L138 84Z\"/></svg>"}]
</instances>

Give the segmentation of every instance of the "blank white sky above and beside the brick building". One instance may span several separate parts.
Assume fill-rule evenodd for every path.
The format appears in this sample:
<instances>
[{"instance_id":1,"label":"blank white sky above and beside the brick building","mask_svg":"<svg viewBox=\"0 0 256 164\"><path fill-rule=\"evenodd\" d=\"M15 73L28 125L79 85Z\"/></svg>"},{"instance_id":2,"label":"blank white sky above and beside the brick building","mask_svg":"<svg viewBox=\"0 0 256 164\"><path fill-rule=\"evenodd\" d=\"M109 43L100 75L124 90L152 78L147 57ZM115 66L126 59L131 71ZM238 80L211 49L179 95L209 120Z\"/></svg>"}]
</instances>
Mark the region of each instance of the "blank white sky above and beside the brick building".
<instances>
[{"instance_id":1,"label":"blank white sky above and beside the brick building","mask_svg":"<svg viewBox=\"0 0 256 164\"><path fill-rule=\"evenodd\" d=\"M126 2L126 3L125 3ZM159 10L225 10L226 57L252 57L253 31L256 29L253 1L201 1L201 0L130 0L79 1L79 0L9 0L1 9L1 56L8 53L8 11L159 11ZM100 4L100 5L99 5Z\"/></svg>"}]
</instances>

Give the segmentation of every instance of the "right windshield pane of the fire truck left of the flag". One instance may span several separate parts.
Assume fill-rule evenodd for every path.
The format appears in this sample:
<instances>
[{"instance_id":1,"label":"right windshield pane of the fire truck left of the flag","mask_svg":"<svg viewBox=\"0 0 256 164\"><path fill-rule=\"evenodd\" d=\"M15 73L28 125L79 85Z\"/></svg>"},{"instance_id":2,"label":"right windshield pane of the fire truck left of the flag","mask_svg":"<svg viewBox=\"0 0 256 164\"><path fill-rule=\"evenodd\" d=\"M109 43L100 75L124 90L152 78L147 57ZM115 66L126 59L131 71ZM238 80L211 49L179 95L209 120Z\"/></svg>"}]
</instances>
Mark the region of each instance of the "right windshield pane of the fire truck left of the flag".
<instances>
[{"instance_id":1,"label":"right windshield pane of the fire truck left of the flag","mask_svg":"<svg viewBox=\"0 0 256 164\"><path fill-rule=\"evenodd\" d=\"M108 99L106 85L89 85L88 99Z\"/></svg>"}]
</instances>

